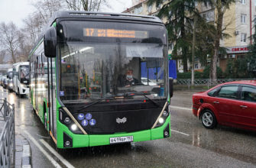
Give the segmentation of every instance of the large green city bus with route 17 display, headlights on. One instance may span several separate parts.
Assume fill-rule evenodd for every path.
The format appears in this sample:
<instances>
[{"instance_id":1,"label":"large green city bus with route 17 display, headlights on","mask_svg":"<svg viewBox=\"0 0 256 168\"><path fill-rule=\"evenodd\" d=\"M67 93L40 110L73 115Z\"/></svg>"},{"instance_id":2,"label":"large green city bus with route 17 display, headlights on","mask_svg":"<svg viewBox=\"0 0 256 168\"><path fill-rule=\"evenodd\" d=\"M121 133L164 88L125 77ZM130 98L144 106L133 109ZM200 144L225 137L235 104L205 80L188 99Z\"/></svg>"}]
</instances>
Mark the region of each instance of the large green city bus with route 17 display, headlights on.
<instances>
[{"instance_id":1,"label":"large green city bus with route 17 display, headlights on","mask_svg":"<svg viewBox=\"0 0 256 168\"><path fill-rule=\"evenodd\" d=\"M58 11L29 61L31 104L57 148L170 137L172 80L159 18Z\"/></svg>"}]
</instances>

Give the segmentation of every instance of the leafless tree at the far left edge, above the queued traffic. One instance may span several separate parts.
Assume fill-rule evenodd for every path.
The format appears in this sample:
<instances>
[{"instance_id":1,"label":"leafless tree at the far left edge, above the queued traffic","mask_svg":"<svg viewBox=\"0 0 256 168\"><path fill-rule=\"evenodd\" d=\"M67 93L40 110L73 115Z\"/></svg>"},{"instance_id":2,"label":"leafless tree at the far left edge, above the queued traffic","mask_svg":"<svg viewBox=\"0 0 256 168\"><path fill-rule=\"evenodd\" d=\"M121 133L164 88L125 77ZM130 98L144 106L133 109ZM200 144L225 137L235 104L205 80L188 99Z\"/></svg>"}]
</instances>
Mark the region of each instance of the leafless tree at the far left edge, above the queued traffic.
<instances>
[{"instance_id":1,"label":"leafless tree at the far left edge, above the queued traffic","mask_svg":"<svg viewBox=\"0 0 256 168\"><path fill-rule=\"evenodd\" d=\"M0 37L2 47L11 55L11 61L16 63L16 53L19 45L18 38L20 34L18 27L13 22L9 24L2 22L0 24L0 34L2 34Z\"/></svg>"}]
</instances>

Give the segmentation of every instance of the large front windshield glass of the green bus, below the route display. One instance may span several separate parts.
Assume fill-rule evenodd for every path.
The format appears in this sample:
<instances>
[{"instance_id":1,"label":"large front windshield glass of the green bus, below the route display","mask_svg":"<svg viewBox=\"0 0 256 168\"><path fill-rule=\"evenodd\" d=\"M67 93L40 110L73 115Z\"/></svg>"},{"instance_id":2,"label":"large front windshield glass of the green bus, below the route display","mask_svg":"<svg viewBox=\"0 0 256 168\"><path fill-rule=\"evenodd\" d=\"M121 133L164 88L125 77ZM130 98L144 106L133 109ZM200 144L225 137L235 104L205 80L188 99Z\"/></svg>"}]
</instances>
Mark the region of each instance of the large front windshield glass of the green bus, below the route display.
<instances>
[{"instance_id":1,"label":"large front windshield glass of the green bus, below the route display","mask_svg":"<svg viewBox=\"0 0 256 168\"><path fill-rule=\"evenodd\" d=\"M91 101L131 92L164 98L165 49L163 44L67 43L60 49L60 99ZM144 79L154 80L155 86L145 86Z\"/></svg>"}]
</instances>

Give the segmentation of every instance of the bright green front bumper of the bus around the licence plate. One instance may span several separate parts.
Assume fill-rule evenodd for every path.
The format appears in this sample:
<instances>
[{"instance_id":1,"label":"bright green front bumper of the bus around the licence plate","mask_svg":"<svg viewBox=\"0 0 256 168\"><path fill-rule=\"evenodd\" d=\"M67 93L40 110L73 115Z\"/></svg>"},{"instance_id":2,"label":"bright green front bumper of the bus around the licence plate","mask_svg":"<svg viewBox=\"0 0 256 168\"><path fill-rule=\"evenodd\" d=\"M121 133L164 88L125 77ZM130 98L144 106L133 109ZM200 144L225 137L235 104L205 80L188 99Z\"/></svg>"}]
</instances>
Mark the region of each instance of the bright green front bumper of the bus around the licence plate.
<instances>
[{"instance_id":1,"label":"bright green front bumper of the bus around the licence plate","mask_svg":"<svg viewBox=\"0 0 256 168\"><path fill-rule=\"evenodd\" d=\"M68 128L63 127L63 124L58 122L61 130L57 134L57 147L70 148L70 147L93 147L109 145L111 137L133 137L133 142L151 141L164 137L170 137L170 116L166 122L159 128L153 128L145 131L136 131L131 133L118 133L118 134L73 134ZM62 125L62 126L61 126ZM167 134L168 132L168 134ZM166 133L166 134L164 134ZM70 141L66 143L66 141ZM65 144L70 144L70 147Z\"/></svg>"}]
</instances>

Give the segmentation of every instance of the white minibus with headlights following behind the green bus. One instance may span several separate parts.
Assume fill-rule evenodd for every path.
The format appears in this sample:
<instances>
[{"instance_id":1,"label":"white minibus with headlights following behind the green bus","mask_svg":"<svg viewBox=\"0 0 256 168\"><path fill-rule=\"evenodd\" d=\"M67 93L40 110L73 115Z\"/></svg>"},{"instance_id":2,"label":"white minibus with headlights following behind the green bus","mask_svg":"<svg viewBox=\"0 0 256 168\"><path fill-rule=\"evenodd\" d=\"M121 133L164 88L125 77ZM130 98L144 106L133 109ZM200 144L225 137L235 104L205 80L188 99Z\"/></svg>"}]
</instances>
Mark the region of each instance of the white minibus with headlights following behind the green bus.
<instances>
[{"instance_id":1,"label":"white minibus with headlights following behind the green bus","mask_svg":"<svg viewBox=\"0 0 256 168\"><path fill-rule=\"evenodd\" d=\"M14 91L19 97L29 93L29 62L13 64Z\"/></svg>"}]
</instances>

